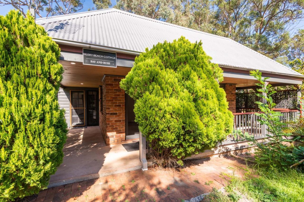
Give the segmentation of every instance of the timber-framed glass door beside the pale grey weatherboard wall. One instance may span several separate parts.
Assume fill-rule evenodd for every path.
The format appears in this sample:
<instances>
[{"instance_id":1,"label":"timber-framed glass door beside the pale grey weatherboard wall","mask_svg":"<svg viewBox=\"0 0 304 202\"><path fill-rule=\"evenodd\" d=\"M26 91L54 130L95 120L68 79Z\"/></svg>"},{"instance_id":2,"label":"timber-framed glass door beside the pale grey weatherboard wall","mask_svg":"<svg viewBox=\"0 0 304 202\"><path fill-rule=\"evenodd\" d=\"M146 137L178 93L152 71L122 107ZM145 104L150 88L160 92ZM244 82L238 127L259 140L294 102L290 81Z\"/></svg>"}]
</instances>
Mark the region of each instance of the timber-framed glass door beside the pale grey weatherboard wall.
<instances>
[{"instance_id":1,"label":"timber-framed glass door beside the pale grey weatherboard wall","mask_svg":"<svg viewBox=\"0 0 304 202\"><path fill-rule=\"evenodd\" d=\"M85 125L85 91L71 90L71 126Z\"/></svg>"}]
</instances>

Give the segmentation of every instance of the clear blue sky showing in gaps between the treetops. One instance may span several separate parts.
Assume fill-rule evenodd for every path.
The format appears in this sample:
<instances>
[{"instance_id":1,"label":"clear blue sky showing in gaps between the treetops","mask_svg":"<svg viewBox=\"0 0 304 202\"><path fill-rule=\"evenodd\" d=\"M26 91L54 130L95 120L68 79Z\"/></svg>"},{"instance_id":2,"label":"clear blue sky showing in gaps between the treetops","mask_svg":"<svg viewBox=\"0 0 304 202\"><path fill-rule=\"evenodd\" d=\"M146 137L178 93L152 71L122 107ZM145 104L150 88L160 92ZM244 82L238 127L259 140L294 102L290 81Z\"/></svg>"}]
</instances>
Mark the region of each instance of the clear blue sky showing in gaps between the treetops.
<instances>
[{"instance_id":1,"label":"clear blue sky showing in gaps between the treetops","mask_svg":"<svg viewBox=\"0 0 304 202\"><path fill-rule=\"evenodd\" d=\"M116 4L116 0L111 0L112 5L114 6ZM88 11L89 8L94 7L94 4L92 0L85 0L83 3L83 9L81 9L78 12L84 12ZM7 14L11 9L14 9L11 5L5 5L0 7L0 15L5 15ZM45 17L46 14L42 13L42 16ZM39 16L37 16L39 18ZM295 22L295 24L292 27L293 29L291 30L291 34L295 33L297 29L304 29L304 20L301 22Z\"/></svg>"}]
</instances>

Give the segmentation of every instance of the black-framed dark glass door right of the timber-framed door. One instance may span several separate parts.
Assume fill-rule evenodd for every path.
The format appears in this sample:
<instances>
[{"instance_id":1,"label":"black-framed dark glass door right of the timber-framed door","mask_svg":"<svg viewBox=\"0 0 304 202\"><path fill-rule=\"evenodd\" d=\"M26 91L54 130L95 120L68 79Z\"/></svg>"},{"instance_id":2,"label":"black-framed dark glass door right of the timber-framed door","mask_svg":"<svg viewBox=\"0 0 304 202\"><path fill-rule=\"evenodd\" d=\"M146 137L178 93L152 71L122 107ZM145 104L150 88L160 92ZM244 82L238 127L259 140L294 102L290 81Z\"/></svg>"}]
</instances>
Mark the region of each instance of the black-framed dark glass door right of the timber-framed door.
<instances>
[{"instance_id":1,"label":"black-framed dark glass door right of the timber-framed door","mask_svg":"<svg viewBox=\"0 0 304 202\"><path fill-rule=\"evenodd\" d=\"M87 91L87 125L98 125L98 91Z\"/></svg>"}]
</instances>

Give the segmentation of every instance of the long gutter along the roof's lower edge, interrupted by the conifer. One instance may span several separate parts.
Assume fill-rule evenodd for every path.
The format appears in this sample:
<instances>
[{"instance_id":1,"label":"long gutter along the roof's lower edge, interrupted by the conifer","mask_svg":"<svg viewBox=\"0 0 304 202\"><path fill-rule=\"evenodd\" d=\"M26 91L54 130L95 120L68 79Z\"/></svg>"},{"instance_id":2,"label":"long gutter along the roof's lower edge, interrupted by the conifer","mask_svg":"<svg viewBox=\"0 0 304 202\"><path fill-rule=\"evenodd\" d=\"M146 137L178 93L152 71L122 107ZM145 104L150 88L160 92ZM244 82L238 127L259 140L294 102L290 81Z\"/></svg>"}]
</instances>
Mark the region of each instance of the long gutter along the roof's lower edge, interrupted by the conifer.
<instances>
[{"instance_id":1,"label":"long gutter along the roof's lower edge, interrupted by the conifer","mask_svg":"<svg viewBox=\"0 0 304 202\"><path fill-rule=\"evenodd\" d=\"M127 50L127 49L118 49L118 48L113 48L113 47L104 46L104 45L95 45L95 44L85 43L85 42L75 42L75 41L67 40L67 39L58 39L58 38L52 38L52 39L54 42L56 42L57 44L60 44L60 45L71 45L71 46L76 46L76 47L81 47L81 48L96 49L96 50L109 51L109 52L118 52L118 53L134 55L134 56L139 56L139 54L141 53L138 51L132 51L132 50ZM241 70L248 70L248 71L255 70L255 69L250 69L250 68L221 65L221 64L219 64L219 67L226 67L226 68L230 68L230 69L241 69ZM278 72L269 72L269 71L264 71L264 70L260 70L260 72L304 78L304 75L293 75L293 74L285 74L285 73L278 73Z\"/></svg>"}]
</instances>

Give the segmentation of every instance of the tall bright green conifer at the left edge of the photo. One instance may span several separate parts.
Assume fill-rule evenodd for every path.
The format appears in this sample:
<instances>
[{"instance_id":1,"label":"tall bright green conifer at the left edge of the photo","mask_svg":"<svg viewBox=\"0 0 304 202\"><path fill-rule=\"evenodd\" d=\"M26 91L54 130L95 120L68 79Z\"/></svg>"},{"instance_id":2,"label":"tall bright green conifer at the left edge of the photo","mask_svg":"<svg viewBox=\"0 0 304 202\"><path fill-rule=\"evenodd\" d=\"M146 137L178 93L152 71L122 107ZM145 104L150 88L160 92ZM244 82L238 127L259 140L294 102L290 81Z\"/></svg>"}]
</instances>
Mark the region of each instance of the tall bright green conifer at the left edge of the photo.
<instances>
[{"instance_id":1,"label":"tall bright green conifer at the left edge of the photo","mask_svg":"<svg viewBox=\"0 0 304 202\"><path fill-rule=\"evenodd\" d=\"M67 124L57 101L59 56L29 13L0 16L0 201L46 188L62 162Z\"/></svg>"}]
</instances>

